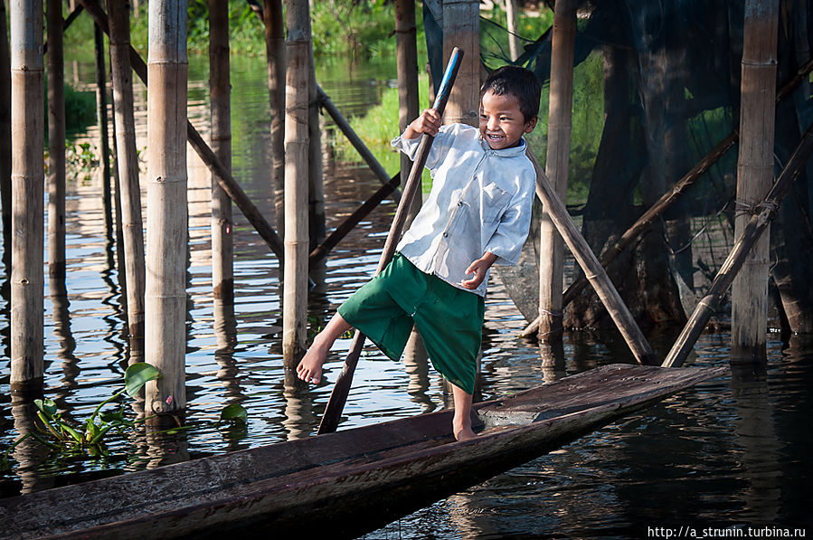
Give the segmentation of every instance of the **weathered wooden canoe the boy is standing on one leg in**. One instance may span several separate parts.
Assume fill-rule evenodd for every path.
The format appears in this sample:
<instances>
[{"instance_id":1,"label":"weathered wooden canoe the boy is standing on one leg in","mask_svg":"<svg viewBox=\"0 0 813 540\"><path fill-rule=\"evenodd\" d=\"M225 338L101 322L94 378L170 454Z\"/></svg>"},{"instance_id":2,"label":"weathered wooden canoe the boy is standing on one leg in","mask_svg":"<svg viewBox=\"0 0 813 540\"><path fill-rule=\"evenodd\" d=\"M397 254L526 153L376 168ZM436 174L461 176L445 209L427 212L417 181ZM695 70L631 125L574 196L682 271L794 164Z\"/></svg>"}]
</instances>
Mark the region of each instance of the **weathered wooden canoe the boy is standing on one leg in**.
<instances>
[{"instance_id":1,"label":"weathered wooden canoe the boy is standing on one leg in","mask_svg":"<svg viewBox=\"0 0 813 540\"><path fill-rule=\"evenodd\" d=\"M353 537L725 371L607 365L476 404L474 440L431 412L6 498L0 524L20 538Z\"/></svg>"}]
</instances>

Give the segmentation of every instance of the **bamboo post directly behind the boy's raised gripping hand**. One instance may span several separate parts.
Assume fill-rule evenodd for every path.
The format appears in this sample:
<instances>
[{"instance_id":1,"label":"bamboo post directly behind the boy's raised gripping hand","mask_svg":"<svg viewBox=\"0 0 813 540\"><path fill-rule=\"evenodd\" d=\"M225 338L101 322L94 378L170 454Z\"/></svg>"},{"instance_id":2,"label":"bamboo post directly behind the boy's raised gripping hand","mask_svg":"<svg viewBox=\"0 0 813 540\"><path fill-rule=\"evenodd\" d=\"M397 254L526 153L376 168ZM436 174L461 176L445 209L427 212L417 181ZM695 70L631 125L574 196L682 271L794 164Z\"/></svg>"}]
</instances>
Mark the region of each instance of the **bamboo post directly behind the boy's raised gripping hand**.
<instances>
[{"instance_id":1,"label":"bamboo post directly behind the boy's raised gripping hand","mask_svg":"<svg viewBox=\"0 0 813 540\"><path fill-rule=\"evenodd\" d=\"M415 26L415 0L395 0L395 46L398 70L398 128L399 132L418 118L418 43ZM401 186L410 177L412 162L410 157L401 154ZM412 199L407 213L407 226L421 210L420 194Z\"/></svg>"}]
</instances>

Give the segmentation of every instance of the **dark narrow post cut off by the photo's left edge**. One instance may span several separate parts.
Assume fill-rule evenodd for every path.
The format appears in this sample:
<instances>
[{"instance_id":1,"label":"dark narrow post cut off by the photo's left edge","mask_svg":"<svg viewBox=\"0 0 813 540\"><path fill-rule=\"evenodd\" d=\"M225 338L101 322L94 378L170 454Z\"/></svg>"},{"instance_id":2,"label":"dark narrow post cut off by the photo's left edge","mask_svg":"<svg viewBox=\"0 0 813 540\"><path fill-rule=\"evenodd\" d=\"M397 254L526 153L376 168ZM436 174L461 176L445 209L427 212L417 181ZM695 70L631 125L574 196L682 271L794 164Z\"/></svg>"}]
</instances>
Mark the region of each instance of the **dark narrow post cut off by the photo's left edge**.
<instances>
[{"instance_id":1,"label":"dark narrow post cut off by the photo's left edge","mask_svg":"<svg viewBox=\"0 0 813 540\"><path fill-rule=\"evenodd\" d=\"M5 0L0 0L0 206L3 213L4 261L11 261L11 61ZM8 240L8 242L5 242ZM10 268L6 264L6 275Z\"/></svg>"}]
</instances>

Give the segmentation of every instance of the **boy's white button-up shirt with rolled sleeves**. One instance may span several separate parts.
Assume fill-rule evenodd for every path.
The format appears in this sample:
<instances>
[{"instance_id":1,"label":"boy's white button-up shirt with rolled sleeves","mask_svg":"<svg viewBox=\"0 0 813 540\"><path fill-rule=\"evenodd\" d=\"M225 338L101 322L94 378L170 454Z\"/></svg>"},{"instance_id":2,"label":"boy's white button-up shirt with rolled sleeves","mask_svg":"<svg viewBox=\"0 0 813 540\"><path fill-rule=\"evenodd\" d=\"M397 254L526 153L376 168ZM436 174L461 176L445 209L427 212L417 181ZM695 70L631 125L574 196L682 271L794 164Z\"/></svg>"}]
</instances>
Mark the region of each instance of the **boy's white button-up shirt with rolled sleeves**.
<instances>
[{"instance_id":1,"label":"boy's white button-up shirt with rolled sleeves","mask_svg":"<svg viewBox=\"0 0 813 540\"><path fill-rule=\"evenodd\" d=\"M392 146L414 159L421 137L395 137ZM477 128L441 126L426 167L432 176L429 198L398 244L419 270L458 289L486 295L488 276L477 289L465 289L463 272L486 251L496 264L516 264L531 224L536 173L517 147L492 150Z\"/></svg>"}]
</instances>

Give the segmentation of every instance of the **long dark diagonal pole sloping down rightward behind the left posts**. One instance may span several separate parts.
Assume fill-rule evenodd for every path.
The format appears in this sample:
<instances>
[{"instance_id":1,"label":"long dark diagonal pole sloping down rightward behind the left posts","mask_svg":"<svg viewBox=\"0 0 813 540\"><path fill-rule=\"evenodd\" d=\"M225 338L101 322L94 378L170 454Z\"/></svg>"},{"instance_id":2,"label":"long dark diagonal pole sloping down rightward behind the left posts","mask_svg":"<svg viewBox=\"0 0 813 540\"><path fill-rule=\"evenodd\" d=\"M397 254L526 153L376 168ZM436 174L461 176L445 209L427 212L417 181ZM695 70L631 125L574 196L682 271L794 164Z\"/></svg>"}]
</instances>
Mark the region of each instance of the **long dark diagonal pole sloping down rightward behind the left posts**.
<instances>
[{"instance_id":1,"label":"long dark diagonal pole sloping down rightward behind the left posts","mask_svg":"<svg viewBox=\"0 0 813 540\"><path fill-rule=\"evenodd\" d=\"M107 14L99 7L96 0L78 1L81 5L84 5L85 10L87 10L93 18L93 21L99 24L102 30L107 33L109 30ZM138 78L147 85L147 64L138 52L133 49L132 45L130 46L130 64L133 67L133 71L136 71ZM251 223L251 226L260 234L260 238L268 244L270 250L281 260L283 251L282 240L262 216L257 206L251 203L251 199L245 194L232 174L223 166L220 159L214 155L212 148L206 144L201 134L198 133L197 129L195 129L188 120L186 122L186 138L197 155L200 156L203 163L209 167L209 170L212 171L213 175L218 179L217 181L223 190L229 194L229 197L234 201L234 204L237 205L249 223Z\"/></svg>"}]
</instances>

